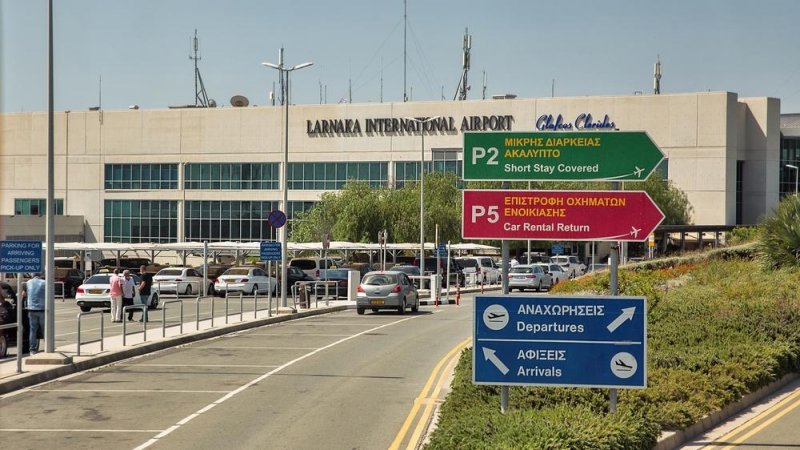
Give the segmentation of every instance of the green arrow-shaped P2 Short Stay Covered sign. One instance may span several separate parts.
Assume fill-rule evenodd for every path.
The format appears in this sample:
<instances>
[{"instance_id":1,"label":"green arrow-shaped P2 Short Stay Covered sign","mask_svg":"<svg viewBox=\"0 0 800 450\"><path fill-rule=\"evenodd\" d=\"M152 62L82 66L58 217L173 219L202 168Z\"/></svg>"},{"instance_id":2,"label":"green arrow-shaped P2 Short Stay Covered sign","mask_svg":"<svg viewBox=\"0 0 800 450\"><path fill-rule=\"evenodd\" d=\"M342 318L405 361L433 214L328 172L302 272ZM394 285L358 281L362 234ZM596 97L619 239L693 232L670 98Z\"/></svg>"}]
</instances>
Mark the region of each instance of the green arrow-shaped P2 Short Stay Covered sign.
<instances>
[{"instance_id":1,"label":"green arrow-shaped P2 Short Stay Covered sign","mask_svg":"<svg viewBox=\"0 0 800 450\"><path fill-rule=\"evenodd\" d=\"M464 180L644 181L663 159L644 131L464 133Z\"/></svg>"}]
</instances>

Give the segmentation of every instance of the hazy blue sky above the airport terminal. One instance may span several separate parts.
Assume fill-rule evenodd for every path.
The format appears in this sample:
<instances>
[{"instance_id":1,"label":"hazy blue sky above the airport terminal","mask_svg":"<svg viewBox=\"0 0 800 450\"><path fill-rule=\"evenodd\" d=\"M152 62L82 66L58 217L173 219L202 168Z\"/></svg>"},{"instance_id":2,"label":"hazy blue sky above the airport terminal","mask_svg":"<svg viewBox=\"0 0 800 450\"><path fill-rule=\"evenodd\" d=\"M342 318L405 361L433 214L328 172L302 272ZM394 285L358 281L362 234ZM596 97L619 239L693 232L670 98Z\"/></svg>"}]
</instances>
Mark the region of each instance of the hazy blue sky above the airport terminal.
<instances>
[{"instance_id":1,"label":"hazy blue sky above the airport terminal","mask_svg":"<svg viewBox=\"0 0 800 450\"><path fill-rule=\"evenodd\" d=\"M47 0L0 0L0 111L47 110ZM730 91L800 112L800 0L53 0L56 110L194 104L197 30L209 98L270 104L453 99L465 29L468 99ZM406 56L403 42L406 30ZM406 63L404 64L404 60ZM101 81L102 80L102 81ZM352 92L352 94L350 94Z\"/></svg>"}]
</instances>

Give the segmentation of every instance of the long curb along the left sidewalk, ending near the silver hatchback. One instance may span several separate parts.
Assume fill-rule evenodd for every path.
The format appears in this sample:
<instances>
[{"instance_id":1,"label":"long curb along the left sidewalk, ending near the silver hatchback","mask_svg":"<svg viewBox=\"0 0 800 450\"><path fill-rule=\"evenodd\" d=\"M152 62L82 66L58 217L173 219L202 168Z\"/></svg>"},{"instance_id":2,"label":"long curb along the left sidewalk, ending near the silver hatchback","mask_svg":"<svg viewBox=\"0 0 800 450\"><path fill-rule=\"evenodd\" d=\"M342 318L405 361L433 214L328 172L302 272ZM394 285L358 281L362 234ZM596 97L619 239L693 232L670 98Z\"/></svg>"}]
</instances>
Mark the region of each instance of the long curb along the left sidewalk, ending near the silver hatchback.
<instances>
[{"instance_id":1,"label":"long curb along the left sidewalk, ending near the silver hatchback","mask_svg":"<svg viewBox=\"0 0 800 450\"><path fill-rule=\"evenodd\" d=\"M165 350L167 348L177 347L180 345L189 344L203 339L235 333L237 331L248 330L250 328L257 328L264 325L271 325L275 323L286 322L288 320L301 319L304 317L318 316L321 314L327 314L335 311L344 311L346 309L352 309L352 308L350 308L349 305L330 306L324 309L314 309L310 311L302 311L283 316L273 316L262 319L256 319L248 322L238 322L235 324L223 325L220 328L212 328L209 330L203 330L191 334L184 334L181 336L166 338L160 341L136 344L134 347L127 349L123 348L122 350L110 351L108 353L104 352L104 354L100 356L89 357L88 359L85 359L83 361L73 362L72 364L67 364L64 366L58 366L51 369L45 369L36 372L25 372L21 374L15 374L8 377L9 379L5 381L0 381L0 395L8 394L10 392L17 391L19 389L30 387L36 384L44 383L47 381L52 381L55 380L56 378L61 378L65 375L71 375L73 373L83 372L85 370L94 369L100 366L105 366L107 364L121 361L123 359L132 358L134 356L146 355L148 353L157 352L159 350Z\"/></svg>"}]
</instances>

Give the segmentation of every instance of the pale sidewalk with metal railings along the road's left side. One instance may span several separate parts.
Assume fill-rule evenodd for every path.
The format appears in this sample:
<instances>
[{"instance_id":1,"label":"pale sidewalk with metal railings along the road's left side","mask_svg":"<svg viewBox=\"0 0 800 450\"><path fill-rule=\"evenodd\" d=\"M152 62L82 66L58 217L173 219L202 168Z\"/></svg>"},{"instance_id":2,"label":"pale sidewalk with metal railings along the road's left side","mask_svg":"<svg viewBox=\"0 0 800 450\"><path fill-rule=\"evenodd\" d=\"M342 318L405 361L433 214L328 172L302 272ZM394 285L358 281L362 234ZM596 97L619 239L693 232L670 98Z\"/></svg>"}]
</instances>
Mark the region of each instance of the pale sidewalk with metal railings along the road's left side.
<instances>
[{"instance_id":1,"label":"pale sidewalk with metal railings along the road's left side","mask_svg":"<svg viewBox=\"0 0 800 450\"><path fill-rule=\"evenodd\" d=\"M456 290L451 288L449 296L444 293L438 299L439 304L456 304L460 293L477 293L483 290L497 290L499 286L465 288ZM435 305L437 299L430 297L430 291L420 290L420 304ZM289 300L291 303L291 300ZM147 353L157 352L170 347L184 345L190 342L209 339L223 334L233 333L249 328L260 327L268 324L283 322L319 314L326 314L344 309L355 309L355 301L346 299L312 300L308 308L278 307L271 310L266 308L257 311L247 311L242 314L216 314L203 320L184 320L183 323L171 325L167 328L148 327L147 324L129 322L131 328L126 334L112 334L105 336L102 342L95 339L93 342L84 343L78 354L77 342L63 344L55 348L54 353L37 353L33 356L24 356L21 361L21 370L18 371L18 362L12 349L10 357L0 360L0 395L7 394L36 384L51 381L73 373L94 369L111 364L116 361L128 359ZM154 311L150 312L154 315ZM98 316L95 316L98 317ZM98 318L85 318L99 324ZM105 321L108 326L109 320ZM179 321L180 322L180 321ZM144 325L144 326L142 326ZM76 340L77 341L77 340ZM40 344L43 348L44 343ZM16 352L16 350L13 350Z\"/></svg>"}]
</instances>

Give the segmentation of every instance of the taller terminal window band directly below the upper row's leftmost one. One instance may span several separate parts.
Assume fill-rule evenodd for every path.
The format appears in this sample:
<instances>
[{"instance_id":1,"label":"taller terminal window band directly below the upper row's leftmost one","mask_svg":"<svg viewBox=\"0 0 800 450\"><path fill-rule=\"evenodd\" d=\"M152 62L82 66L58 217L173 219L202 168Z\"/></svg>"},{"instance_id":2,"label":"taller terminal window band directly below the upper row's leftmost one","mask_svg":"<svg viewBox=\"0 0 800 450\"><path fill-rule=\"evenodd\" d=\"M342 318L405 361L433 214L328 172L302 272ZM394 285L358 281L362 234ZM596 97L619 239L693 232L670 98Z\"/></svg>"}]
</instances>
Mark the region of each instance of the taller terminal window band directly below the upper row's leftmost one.
<instances>
[{"instance_id":1,"label":"taller terminal window band directly below the upper row's leftmost one","mask_svg":"<svg viewBox=\"0 0 800 450\"><path fill-rule=\"evenodd\" d=\"M177 242L178 202L106 200L104 242Z\"/></svg>"}]
</instances>

